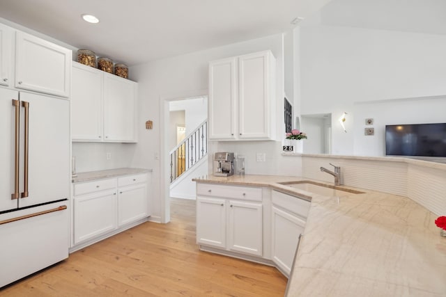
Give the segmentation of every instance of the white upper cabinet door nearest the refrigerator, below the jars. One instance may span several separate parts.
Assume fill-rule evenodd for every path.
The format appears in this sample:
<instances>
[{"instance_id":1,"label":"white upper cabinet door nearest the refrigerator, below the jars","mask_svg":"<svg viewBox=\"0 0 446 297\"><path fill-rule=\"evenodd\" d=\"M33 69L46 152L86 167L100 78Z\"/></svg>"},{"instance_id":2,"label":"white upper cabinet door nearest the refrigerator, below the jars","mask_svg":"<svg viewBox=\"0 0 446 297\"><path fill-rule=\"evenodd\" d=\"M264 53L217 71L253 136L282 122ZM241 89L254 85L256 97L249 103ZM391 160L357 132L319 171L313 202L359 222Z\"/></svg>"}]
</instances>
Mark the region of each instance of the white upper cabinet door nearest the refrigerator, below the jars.
<instances>
[{"instance_id":1,"label":"white upper cabinet door nearest the refrigerator, below the jars","mask_svg":"<svg viewBox=\"0 0 446 297\"><path fill-rule=\"evenodd\" d=\"M102 75L93 67L73 63L71 81L71 137L102 140Z\"/></svg>"}]
</instances>

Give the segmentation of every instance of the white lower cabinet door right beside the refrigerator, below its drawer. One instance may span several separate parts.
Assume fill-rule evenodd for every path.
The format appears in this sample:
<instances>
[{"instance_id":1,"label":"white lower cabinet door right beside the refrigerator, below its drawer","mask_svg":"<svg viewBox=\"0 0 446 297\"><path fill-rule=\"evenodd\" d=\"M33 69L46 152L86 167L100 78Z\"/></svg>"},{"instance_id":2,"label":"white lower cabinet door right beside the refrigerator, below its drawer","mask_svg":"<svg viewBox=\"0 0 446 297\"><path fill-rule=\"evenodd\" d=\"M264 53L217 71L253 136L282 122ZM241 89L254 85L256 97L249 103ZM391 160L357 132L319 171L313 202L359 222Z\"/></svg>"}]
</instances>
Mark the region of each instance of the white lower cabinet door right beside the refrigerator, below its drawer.
<instances>
[{"instance_id":1,"label":"white lower cabinet door right beside the refrigerator, below its drawer","mask_svg":"<svg viewBox=\"0 0 446 297\"><path fill-rule=\"evenodd\" d=\"M116 190L75 198L74 243L116 229Z\"/></svg>"}]
</instances>

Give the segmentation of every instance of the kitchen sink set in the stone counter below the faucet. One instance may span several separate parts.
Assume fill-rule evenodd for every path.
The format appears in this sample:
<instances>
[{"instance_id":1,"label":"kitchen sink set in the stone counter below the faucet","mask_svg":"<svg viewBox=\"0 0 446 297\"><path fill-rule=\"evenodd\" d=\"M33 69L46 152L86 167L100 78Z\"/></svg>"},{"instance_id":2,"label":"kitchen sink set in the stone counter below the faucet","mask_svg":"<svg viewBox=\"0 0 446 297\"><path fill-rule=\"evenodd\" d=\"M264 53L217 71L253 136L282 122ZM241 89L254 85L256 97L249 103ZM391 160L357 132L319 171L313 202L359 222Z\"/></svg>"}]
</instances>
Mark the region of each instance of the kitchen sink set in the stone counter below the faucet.
<instances>
[{"instance_id":1,"label":"kitchen sink set in the stone counter below the faucet","mask_svg":"<svg viewBox=\"0 0 446 297\"><path fill-rule=\"evenodd\" d=\"M342 186L331 186L329 184L320 184L318 182L309 181L279 182L279 184L324 196L346 196L364 193L361 191L352 190L351 188L344 188Z\"/></svg>"}]
</instances>

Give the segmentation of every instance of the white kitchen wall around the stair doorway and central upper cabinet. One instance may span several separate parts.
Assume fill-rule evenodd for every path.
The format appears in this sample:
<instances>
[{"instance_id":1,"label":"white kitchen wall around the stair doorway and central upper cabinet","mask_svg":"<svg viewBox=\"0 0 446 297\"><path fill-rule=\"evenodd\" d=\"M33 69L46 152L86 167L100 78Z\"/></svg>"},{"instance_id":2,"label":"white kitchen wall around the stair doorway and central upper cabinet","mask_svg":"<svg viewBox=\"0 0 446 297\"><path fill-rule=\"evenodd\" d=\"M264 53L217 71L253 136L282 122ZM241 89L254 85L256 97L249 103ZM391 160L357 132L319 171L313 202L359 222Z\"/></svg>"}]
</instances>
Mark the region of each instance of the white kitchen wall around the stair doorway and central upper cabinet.
<instances>
[{"instance_id":1,"label":"white kitchen wall around the stair doorway and central upper cabinet","mask_svg":"<svg viewBox=\"0 0 446 297\"><path fill-rule=\"evenodd\" d=\"M208 89L208 62L230 56L249 54L255 51L270 49L277 59L277 110L283 109L283 38L282 34L271 35L255 40L239 42L233 45L217 47L192 54L185 54L160 61L153 61L131 68L132 79L139 83L139 143L137 144L132 166L153 169L153 217L162 220L164 208L164 192L168 191L165 184L165 172L162 172L162 163L156 159L162 154L162 111L164 101L192 97L202 90ZM146 120L153 120L153 129L143 129ZM283 122L283 113L279 113L277 122ZM279 126L279 125L278 125ZM282 125L279 126L282 128ZM280 128L277 129L280 129ZM278 145L280 147L281 144ZM236 145L242 148L243 145ZM277 154L277 151L275 151ZM252 152L249 152L251 155ZM254 168L254 166L252 166ZM268 169L268 168L266 168ZM263 170L263 173L268 170ZM261 172L259 172L261 173Z\"/></svg>"}]
</instances>

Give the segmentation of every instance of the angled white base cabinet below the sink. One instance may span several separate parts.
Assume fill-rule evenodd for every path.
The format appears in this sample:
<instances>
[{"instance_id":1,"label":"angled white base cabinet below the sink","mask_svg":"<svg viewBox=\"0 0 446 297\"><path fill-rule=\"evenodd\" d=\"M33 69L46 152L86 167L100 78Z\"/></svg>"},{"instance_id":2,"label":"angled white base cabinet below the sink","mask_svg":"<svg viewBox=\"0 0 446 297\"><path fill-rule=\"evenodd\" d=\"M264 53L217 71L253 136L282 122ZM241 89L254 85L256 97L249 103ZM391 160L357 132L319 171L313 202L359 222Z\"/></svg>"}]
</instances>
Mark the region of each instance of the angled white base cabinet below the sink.
<instances>
[{"instance_id":1,"label":"angled white base cabinet below the sink","mask_svg":"<svg viewBox=\"0 0 446 297\"><path fill-rule=\"evenodd\" d=\"M289 276L310 202L272 191L272 261Z\"/></svg>"}]
</instances>

